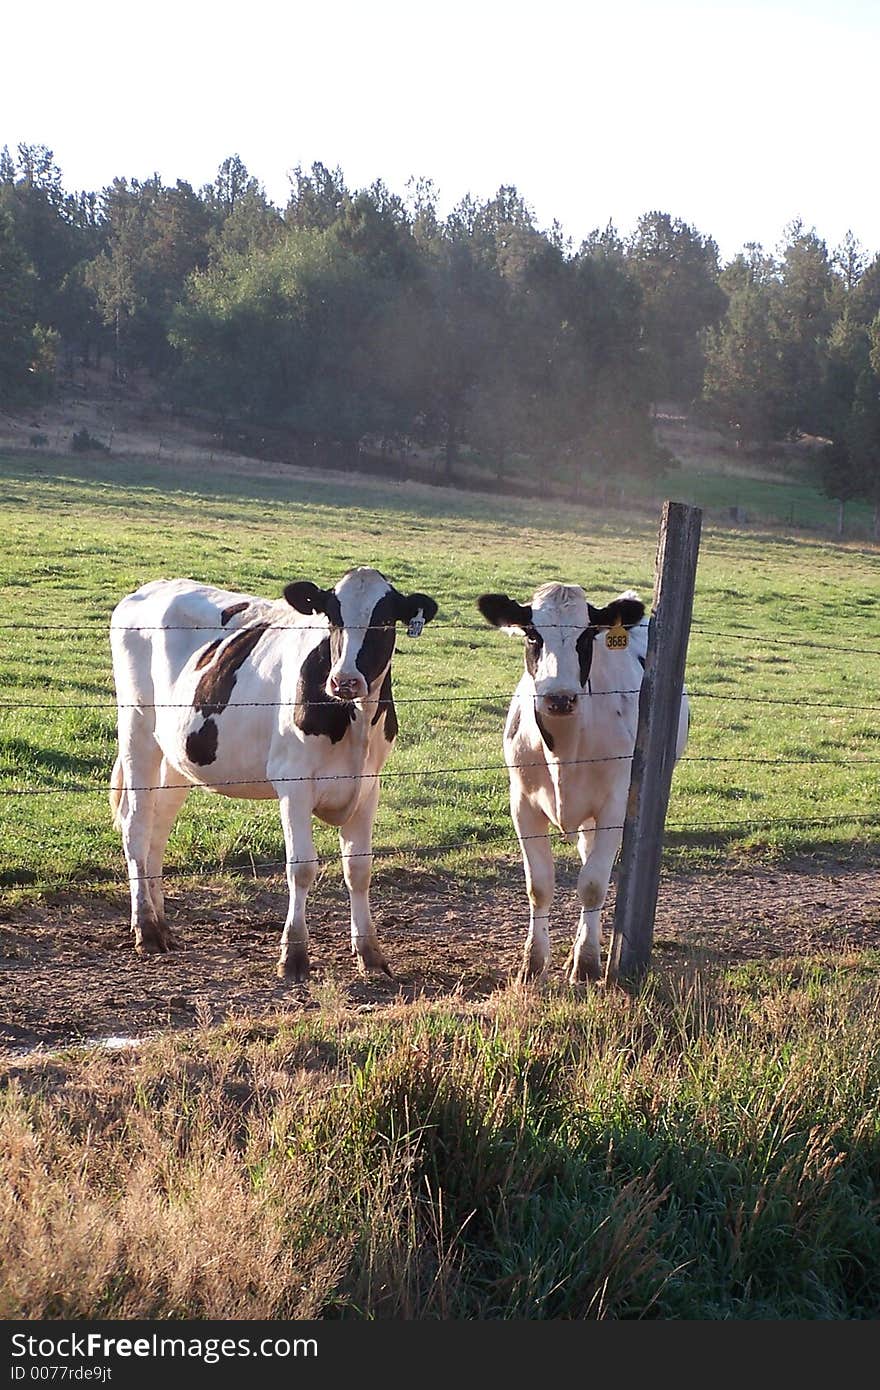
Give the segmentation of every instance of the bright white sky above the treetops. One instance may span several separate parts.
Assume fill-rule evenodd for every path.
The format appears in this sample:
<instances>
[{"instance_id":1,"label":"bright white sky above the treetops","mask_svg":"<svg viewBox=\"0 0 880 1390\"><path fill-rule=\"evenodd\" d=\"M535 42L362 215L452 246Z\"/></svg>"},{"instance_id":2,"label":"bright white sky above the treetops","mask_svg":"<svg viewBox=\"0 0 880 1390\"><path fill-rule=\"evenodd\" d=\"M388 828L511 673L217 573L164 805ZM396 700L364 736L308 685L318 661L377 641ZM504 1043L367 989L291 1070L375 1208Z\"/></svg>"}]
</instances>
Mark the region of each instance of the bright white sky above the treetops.
<instances>
[{"instance_id":1,"label":"bright white sky above the treetops","mask_svg":"<svg viewBox=\"0 0 880 1390\"><path fill-rule=\"evenodd\" d=\"M0 25L0 146L64 186L200 188L238 153L284 206L349 186L516 183L574 243L652 208L773 250L795 217L880 250L880 0L43 0Z\"/></svg>"}]
</instances>

